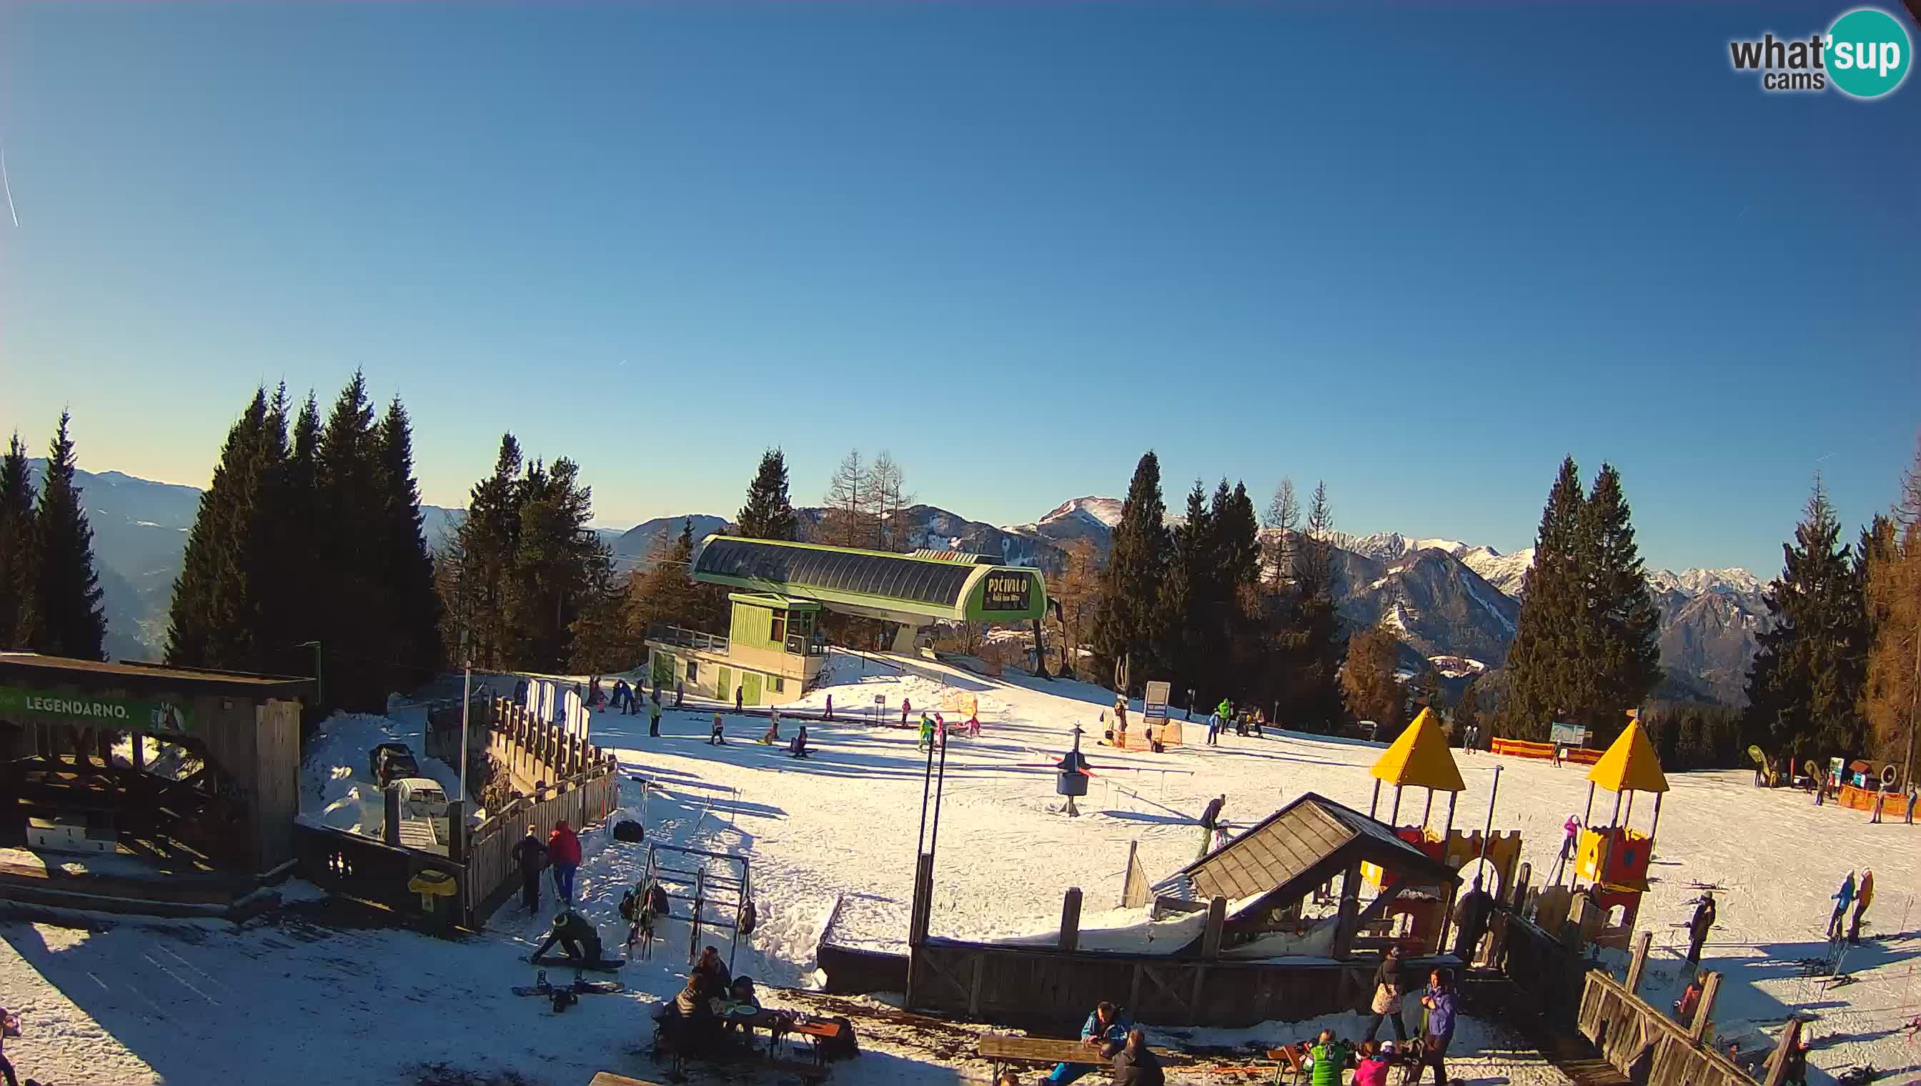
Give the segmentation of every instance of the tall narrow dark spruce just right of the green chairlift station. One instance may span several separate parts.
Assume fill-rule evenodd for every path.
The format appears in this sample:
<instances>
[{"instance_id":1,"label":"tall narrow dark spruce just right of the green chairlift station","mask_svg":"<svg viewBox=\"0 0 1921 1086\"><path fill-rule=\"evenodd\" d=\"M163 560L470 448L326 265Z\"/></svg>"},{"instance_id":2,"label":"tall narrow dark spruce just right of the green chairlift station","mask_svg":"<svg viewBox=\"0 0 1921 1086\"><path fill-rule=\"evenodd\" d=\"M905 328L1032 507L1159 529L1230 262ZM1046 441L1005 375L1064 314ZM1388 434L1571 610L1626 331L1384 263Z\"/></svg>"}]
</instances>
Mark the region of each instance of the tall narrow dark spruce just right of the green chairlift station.
<instances>
[{"instance_id":1,"label":"tall narrow dark spruce just right of the green chairlift station","mask_svg":"<svg viewBox=\"0 0 1921 1086\"><path fill-rule=\"evenodd\" d=\"M1160 457L1149 450L1133 467L1128 500L1114 525L1112 550L1101 579L1101 611L1095 615L1093 648L1103 680L1114 665L1128 663L1130 684L1153 677L1155 611L1168 565L1166 502L1160 496Z\"/></svg>"}]
</instances>

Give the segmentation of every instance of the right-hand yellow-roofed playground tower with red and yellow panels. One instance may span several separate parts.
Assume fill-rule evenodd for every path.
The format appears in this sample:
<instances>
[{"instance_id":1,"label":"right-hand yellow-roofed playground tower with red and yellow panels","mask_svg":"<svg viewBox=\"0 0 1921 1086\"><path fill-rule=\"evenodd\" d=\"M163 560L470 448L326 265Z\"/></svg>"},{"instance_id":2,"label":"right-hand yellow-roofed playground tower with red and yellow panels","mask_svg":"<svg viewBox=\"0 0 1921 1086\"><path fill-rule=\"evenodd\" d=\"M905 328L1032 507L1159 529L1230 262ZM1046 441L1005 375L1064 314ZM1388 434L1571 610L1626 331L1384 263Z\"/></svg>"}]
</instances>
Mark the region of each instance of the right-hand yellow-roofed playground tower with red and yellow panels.
<instances>
[{"instance_id":1,"label":"right-hand yellow-roofed playground tower with red and yellow panels","mask_svg":"<svg viewBox=\"0 0 1921 1086\"><path fill-rule=\"evenodd\" d=\"M1639 713L1627 715L1627 728L1600 755L1587 780L1587 811L1581 815L1573 876L1575 884L1587 880L1585 896L1593 905L1591 915L1598 919L1589 942L1625 950L1635 932L1635 917L1641 913L1641 896L1648 892L1654 832L1662 825L1662 796L1667 792L1667 775L1662 773L1660 757L1641 727ZM1614 792L1614 815L1606 827L1593 825L1594 788ZM1629 825L1635 815L1635 792L1654 794L1654 819L1644 834Z\"/></svg>"}]
</instances>

